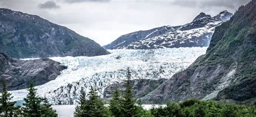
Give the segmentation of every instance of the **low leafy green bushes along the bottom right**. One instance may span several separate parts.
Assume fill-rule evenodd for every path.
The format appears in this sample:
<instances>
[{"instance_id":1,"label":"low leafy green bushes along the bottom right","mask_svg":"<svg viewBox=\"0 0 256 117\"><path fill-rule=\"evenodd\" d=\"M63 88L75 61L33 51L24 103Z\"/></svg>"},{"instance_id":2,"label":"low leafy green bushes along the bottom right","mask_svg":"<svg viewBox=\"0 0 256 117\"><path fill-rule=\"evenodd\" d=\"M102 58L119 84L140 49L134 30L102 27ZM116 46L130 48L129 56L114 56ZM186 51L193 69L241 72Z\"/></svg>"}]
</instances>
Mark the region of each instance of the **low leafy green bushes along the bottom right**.
<instances>
[{"instance_id":1,"label":"low leafy green bushes along the bottom right","mask_svg":"<svg viewBox=\"0 0 256 117\"><path fill-rule=\"evenodd\" d=\"M166 107L152 107L151 116L256 116L256 106L223 104L216 101L188 99L182 103L167 102Z\"/></svg>"}]
</instances>

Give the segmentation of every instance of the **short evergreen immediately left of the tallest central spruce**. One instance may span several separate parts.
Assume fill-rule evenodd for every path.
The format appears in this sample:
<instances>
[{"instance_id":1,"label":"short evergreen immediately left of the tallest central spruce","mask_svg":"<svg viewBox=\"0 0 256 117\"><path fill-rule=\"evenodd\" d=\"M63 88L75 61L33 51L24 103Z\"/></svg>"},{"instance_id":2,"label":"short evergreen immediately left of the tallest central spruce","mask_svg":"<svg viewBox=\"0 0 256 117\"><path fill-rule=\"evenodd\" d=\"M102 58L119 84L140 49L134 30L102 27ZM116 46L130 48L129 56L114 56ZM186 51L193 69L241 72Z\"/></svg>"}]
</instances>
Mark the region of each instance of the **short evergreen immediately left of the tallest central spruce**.
<instances>
[{"instance_id":1,"label":"short evergreen immediately left of the tallest central spruce","mask_svg":"<svg viewBox=\"0 0 256 117\"><path fill-rule=\"evenodd\" d=\"M112 99L110 100L110 105L109 105L111 115L121 116L120 101L121 101L121 95L120 95L119 90L116 87L116 89L114 90L114 93L112 95Z\"/></svg>"}]
</instances>

